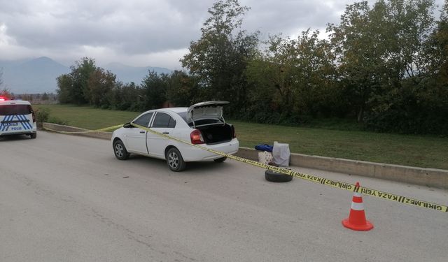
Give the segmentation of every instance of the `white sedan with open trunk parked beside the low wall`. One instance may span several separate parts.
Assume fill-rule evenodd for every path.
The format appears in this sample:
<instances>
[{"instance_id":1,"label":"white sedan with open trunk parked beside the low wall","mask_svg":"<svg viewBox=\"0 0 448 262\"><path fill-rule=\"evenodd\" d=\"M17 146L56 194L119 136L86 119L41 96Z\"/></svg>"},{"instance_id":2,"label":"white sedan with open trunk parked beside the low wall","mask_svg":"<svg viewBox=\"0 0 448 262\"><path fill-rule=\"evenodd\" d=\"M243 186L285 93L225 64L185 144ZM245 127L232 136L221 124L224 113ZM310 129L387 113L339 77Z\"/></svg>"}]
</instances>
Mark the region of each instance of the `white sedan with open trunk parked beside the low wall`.
<instances>
[{"instance_id":1,"label":"white sedan with open trunk parked beside the low wall","mask_svg":"<svg viewBox=\"0 0 448 262\"><path fill-rule=\"evenodd\" d=\"M229 102L208 101L189 108L146 111L113 132L113 152L120 160L127 159L130 153L165 159L173 171L183 170L186 162L190 161L223 162L226 158L221 155L148 132L132 124L212 150L235 154L239 148L235 128L223 118L223 105L227 103Z\"/></svg>"}]
</instances>

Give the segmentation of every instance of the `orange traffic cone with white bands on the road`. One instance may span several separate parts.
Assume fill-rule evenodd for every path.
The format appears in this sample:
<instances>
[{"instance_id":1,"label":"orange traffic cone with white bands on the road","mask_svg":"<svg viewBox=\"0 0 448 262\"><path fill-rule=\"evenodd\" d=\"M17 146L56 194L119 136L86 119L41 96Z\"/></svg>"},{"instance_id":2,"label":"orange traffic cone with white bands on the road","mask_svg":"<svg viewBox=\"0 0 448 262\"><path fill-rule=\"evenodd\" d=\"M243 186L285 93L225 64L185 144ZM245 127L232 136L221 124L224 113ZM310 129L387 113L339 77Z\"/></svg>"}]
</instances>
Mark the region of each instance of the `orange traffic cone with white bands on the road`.
<instances>
[{"instance_id":1,"label":"orange traffic cone with white bands on the road","mask_svg":"<svg viewBox=\"0 0 448 262\"><path fill-rule=\"evenodd\" d=\"M359 187L359 182L356 182L356 187ZM350 215L348 219L342 220L342 225L356 231L369 231L373 228L373 224L365 219L363 197L360 193L353 192Z\"/></svg>"}]
</instances>

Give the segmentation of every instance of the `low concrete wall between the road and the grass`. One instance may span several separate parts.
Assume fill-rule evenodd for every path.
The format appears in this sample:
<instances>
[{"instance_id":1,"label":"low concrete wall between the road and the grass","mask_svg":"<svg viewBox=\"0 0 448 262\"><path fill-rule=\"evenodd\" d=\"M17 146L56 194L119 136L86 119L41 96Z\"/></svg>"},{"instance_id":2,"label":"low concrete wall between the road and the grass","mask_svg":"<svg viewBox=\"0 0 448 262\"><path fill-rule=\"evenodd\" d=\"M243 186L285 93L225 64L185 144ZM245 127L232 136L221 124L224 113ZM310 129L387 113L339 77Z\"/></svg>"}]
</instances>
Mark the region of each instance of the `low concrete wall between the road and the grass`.
<instances>
[{"instance_id":1,"label":"low concrete wall between the road and the grass","mask_svg":"<svg viewBox=\"0 0 448 262\"><path fill-rule=\"evenodd\" d=\"M44 129L53 129L57 131L84 131L84 129L78 129L73 126L62 126L59 124L50 123L43 123L43 127ZM78 136L89 136L93 138L110 140L112 133L92 132L81 133L78 134ZM250 148L240 147L239 152L235 155L246 159L258 160L258 152L259 151ZM306 154L291 154L290 165L448 189L448 170L442 169L414 168L410 166L398 166L386 163L372 163L367 161L337 159L332 157L309 156Z\"/></svg>"}]
</instances>

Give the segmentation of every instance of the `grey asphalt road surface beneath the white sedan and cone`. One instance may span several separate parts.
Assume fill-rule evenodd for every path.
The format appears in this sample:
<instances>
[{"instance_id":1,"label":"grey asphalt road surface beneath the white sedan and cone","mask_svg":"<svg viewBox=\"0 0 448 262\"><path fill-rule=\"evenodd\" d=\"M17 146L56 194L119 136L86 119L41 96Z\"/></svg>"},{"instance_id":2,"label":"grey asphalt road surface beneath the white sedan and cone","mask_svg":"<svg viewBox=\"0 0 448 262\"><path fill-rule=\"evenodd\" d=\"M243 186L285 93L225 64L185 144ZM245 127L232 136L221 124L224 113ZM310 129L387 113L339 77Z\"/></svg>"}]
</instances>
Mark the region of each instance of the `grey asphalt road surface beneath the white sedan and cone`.
<instances>
[{"instance_id":1,"label":"grey asphalt road surface beneath the white sedan and cone","mask_svg":"<svg viewBox=\"0 0 448 262\"><path fill-rule=\"evenodd\" d=\"M294 168L447 204L448 191ZM365 196L372 231L351 231L352 194L267 182L235 161L119 161L108 140L0 138L0 261L447 261L448 213Z\"/></svg>"}]
</instances>

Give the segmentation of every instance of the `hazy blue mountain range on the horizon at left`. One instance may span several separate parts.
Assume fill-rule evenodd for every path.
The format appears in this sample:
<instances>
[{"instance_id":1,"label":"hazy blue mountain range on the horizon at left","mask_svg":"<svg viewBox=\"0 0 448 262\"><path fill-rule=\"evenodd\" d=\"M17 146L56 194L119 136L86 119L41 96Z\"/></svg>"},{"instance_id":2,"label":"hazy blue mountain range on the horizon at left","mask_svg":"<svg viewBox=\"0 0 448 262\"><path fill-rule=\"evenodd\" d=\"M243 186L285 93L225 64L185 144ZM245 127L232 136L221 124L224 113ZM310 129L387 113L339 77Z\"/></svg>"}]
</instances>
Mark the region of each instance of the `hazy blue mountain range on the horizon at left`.
<instances>
[{"instance_id":1,"label":"hazy blue mountain range on the horizon at left","mask_svg":"<svg viewBox=\"0 0 448 262\"><path fill-rule=\"evenodd\" d=\"M161 67L135 67L119 63L104 66L117 75L121 82L134 82L137 85L148 75L149 71L156 73L171 73L168 68ZM38 57L36 59L1 61L0 72L3 85L14 94L42 94L43 92L55 93L57 89L56 78L59 75L70 73L70 68L59 64L49 57Z\"/></svg>"}]
</instances>

